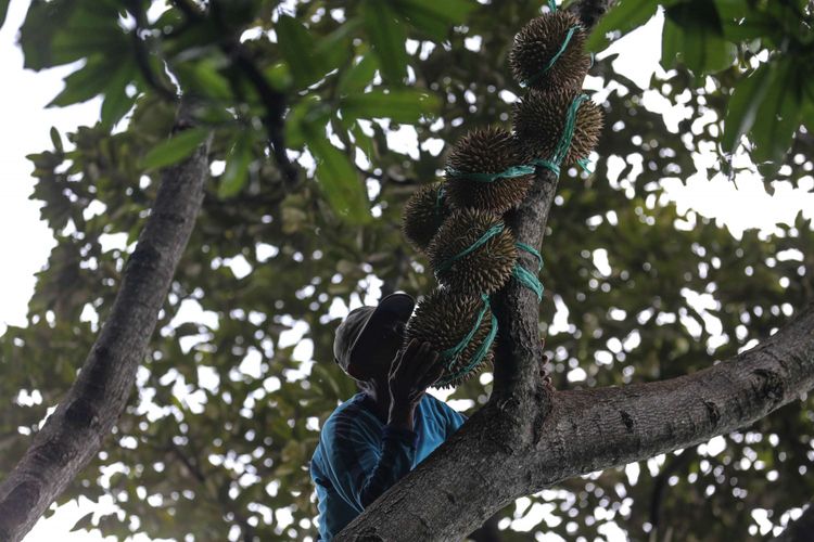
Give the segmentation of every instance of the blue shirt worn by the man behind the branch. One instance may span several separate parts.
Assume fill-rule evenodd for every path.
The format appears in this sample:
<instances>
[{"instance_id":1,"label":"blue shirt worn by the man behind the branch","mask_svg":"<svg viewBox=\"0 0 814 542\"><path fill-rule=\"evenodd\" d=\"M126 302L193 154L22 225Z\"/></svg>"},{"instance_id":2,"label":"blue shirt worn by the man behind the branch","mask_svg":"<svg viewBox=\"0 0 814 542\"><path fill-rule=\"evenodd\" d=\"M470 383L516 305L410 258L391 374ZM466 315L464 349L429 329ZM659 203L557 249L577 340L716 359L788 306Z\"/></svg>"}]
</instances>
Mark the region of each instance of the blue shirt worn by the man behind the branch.
<instances>
[{"instance_id":1,"label":"blue shirt worn by the man behind the branch","mask_svg":"<svg viewBox=\"0 0 814 542\"><path fill-rule=\"evenodd\" d=\"M331 540L467 420L424 395L410 431L384 424L372 403L364 391L356 393L336 406L319 434L310 461L319 540Z\"/></svg>"}]
</instances>

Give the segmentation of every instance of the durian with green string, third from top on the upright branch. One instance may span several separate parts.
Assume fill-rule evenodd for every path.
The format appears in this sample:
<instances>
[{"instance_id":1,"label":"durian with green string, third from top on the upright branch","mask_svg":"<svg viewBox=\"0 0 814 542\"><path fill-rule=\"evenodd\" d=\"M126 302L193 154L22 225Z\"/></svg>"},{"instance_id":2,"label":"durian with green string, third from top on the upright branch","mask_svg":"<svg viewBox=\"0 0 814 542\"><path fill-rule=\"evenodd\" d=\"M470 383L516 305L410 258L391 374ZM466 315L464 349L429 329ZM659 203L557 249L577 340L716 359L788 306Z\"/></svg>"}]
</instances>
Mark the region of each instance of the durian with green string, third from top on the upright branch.
<instances>
[{"instance_id":1,"label":"durian with green string, third from top on the upright branch","mask_svg":"<svg viewBox=\"0 0 814 542\"><path fill-rule=\"evenodd\" d=\"M472 207L503 215L523 201L534 182L533 173L479 181L468 173L500 173L525 164L520 145L497 127L469 132L447 159L447 194L453 207Z\"/></svg>"}]
</instances>

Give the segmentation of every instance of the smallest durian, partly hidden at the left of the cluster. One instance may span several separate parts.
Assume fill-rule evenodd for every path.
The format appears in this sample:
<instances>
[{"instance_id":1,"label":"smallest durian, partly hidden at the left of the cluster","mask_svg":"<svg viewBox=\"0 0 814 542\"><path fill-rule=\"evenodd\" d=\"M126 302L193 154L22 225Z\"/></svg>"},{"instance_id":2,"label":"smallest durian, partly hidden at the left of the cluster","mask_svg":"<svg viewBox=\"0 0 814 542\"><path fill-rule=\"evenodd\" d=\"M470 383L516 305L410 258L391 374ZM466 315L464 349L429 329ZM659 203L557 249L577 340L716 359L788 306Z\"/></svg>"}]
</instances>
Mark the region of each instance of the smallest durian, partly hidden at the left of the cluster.
<instances>
[{"instance_id":1,"label":"smallest durian, partly hidden at the left of the cluster","mask_svg":"<svg viewBox=\"0 0 814 542\"><path fill-rule=\"evenodd\" d=\"M402 232L407 242L419 251L427 250L433 235L449 215L446 183L425 184L412 193L404 204ZM442 191L438 194L438 191Z\"/></svg>"}]
</instances>

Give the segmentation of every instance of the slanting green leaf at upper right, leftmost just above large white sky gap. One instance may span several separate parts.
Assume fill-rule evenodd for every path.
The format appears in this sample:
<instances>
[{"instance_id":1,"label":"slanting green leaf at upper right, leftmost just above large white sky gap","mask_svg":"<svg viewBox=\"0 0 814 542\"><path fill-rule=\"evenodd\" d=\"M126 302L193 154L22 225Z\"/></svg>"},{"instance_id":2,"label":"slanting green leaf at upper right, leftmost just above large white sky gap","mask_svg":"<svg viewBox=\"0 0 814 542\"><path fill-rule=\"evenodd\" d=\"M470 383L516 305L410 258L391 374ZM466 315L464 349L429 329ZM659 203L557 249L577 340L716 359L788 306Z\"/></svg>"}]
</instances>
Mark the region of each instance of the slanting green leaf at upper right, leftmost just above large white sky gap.
<instances>
[{"instance_id":1,"label":"slanting green leaf at upper right, leftmost just above large white sky gap","mask_svg":"<svg viewBox=\"0 0 814 542\"><path fill-rule=\"evenodd\" d=\"M724 122L724 134L721 146L726 154L734 153L740 144L740 138L752 129L758 116L758 108L773 79L773 65L763 64L749 77L745 77L733 90Z\"/></svg>"}]
</instances>

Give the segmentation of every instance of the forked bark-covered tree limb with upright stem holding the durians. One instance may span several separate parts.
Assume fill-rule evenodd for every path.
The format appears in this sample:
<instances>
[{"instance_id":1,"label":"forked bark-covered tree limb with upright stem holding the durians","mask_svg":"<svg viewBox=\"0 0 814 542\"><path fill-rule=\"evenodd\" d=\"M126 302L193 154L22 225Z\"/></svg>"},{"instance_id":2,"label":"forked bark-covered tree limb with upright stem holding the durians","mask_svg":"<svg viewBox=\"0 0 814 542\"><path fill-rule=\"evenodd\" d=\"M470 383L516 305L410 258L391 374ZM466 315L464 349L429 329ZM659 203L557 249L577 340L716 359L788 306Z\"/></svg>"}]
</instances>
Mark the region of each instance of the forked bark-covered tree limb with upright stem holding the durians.
<instances>
[{"instance_id":1,"label":"forked bark-covered tree limb with upright stem holding the durians","mask_svg":"<svg viewBox=\"0 0 814 542\"><path fill-rule=\"evenodd\" d=\"M611 3L572 10L592 27ZM556 188L554 175L537 172L507 218L519 241L540 246ZM814 305L758 347L696 374L563 392L544 378L534 294L512 281L494 305L500 336L489 401L336 540L460 540L519 496L705 441L814 387Z\"/></svg>"}]
</instances>

